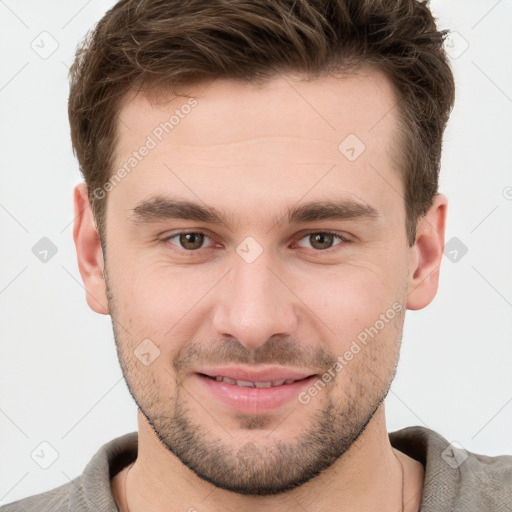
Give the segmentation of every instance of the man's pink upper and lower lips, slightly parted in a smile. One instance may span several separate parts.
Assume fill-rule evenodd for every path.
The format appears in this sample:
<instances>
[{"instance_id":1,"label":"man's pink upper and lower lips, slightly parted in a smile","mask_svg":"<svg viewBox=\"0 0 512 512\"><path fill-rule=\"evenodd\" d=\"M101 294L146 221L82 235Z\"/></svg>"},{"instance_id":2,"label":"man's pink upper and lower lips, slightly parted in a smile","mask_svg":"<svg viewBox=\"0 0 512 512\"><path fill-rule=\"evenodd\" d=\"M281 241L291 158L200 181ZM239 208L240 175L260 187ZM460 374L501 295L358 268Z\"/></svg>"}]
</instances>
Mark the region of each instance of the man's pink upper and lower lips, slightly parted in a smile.
<instances>
[{"instance_id":1,"label":"man's pink upper and lower lips, slightly parted in a smile","mask_svg":"<svg viewBox=\"0 0 512 512\"><path fill-rule=\"evenodd\" d=\"M208 373L207 373L208 372ZM208 377L206 375L209 375ZM217 381L217 375L234 380L268 382L287 379L300 379L290 384L269 388L253 388ZM263 371L250 371L243 368L215 368L196 373L195 377L206 390L231 411L241 414L269 413L287 402L297 399L299 393L310 386L318 375L304 374L284 368L270 368Z\"/></svg>"}]
</instances>

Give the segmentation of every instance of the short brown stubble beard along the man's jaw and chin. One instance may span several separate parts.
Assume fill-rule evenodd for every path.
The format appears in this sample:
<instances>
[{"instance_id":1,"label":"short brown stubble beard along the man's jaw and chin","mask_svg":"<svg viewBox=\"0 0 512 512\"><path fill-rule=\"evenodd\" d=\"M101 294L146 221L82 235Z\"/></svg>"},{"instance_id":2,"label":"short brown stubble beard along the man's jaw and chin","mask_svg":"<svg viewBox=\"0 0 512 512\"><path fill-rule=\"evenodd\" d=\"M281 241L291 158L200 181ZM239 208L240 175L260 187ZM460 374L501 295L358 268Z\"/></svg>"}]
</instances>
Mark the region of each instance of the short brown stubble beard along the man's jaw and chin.
<instances>
[{"instance_id":1,"label":"short brown stubble beard along the man's jaw and chin","mask_svg":"<svg viewBox=\"0 0 512 512\"><path fill-rule=\"evenodd\" d=\"M398 350L394 354L394 369L388 371L384 379L366 371L361 364L363 361L359 361L349 378L345 376L341 397L335 397L334 386L330 393L326 388L309 404L297 402L297 409L277 425L269 425L270 420L265 415L237 415L240 429L251 434L258 429L267 429L268 434L260 436L260 442L248 440L241 446L233 446L229 432L219 426L222 425L221 418L213 422L220 435L205 427L205 423L212 421L196 401L187 401L188 392L182 392L184 388L180 382L176 381L174 395L165 396L155 376L148 379L140 371L130 348L136 343L116 327L115 301L108 285L107 297L124 378L156 437L166 450L200 478L240 495L282 494L332 466L364 432L387 396L396 374ZM366 350L371 349L366 347ZM377 352L366 356L364 361L372 363L376 358ZM346 372L347 368L342 371ZM197 412L194 415L191 405L207 421L196 419ZM304 415L310 419L303 422L305 425L295 438L281 438L280 433L286 434L287 421L296 424Z\"/></svg>"}]
</instances>

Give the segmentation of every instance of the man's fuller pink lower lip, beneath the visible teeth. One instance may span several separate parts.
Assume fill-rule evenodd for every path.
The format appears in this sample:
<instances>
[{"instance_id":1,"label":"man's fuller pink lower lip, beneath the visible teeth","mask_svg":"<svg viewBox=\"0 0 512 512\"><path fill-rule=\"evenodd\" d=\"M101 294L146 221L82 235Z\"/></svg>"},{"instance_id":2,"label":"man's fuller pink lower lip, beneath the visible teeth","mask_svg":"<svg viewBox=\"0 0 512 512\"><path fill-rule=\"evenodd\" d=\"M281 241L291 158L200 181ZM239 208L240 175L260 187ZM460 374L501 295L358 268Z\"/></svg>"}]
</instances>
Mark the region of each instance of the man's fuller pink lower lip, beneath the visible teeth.
<instances>
[{"instance_id":1,"label":"man's fuller pink lower lip, beneath the visible teeth","mask_svg":"<svg viewBox=\"0 0 512 512\"><path fill-rule=\"evenodd\" d=\"M221 402L234 411L244 414L261 414L272 411L291 399L297 398L298 394L317 378L316 375L312 375L291 384L270 388L250 388L219 382L200 374L196 374L196 376Z\"/></svg>"}]
</instances>

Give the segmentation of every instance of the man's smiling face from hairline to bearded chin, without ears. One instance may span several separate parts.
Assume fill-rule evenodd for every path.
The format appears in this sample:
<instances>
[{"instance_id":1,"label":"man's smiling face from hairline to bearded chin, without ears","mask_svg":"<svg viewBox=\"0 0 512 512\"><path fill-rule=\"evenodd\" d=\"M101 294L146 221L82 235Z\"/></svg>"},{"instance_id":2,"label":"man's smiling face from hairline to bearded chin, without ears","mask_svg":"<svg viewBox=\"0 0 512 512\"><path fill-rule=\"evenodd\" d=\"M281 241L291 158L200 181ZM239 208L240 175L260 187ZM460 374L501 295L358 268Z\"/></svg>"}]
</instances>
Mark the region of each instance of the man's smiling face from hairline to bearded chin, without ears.
<instances>
[{"instance_id":1,"label":"man's smiling face from hairline to bearded chin, without ears","mask_svg":"<svg viewBox=\"0 0 512 512\"><path fill-rule=\"evenodd\" d=\"M137 163L106 214L119 358L184 464L218 487L278 493L352 445L394 376L409 264L396 98L373 71L218 81L194 97L132 97L121 112L114 170L134 151ZM176 201L225 223L175 218ZM300 210L327 201L344 215ZM275 385L284 377L295 382Z\"/></svg>"}]
</instances>

